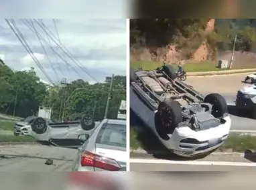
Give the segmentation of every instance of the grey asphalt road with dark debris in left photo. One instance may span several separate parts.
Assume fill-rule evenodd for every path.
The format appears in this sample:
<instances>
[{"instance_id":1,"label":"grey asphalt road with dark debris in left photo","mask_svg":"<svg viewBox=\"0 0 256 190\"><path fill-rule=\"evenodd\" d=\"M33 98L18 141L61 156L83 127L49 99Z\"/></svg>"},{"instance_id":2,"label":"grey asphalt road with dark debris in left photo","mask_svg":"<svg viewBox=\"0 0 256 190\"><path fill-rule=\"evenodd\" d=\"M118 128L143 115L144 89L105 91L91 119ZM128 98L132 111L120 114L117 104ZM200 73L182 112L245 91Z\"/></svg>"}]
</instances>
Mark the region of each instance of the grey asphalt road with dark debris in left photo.
<instances>
[{"instance_id":1,"label":"grey asphalt road with dark debris in left photo","mask_svg":"<svg viewBox=\"0 0 256 190\"><path fill-rule=\"evenodd\" d=\"M76 149L44 145L0 146L0 171L70 171ZM46 159L53 165L45 165Z\"/></svg>"}]
</instances>

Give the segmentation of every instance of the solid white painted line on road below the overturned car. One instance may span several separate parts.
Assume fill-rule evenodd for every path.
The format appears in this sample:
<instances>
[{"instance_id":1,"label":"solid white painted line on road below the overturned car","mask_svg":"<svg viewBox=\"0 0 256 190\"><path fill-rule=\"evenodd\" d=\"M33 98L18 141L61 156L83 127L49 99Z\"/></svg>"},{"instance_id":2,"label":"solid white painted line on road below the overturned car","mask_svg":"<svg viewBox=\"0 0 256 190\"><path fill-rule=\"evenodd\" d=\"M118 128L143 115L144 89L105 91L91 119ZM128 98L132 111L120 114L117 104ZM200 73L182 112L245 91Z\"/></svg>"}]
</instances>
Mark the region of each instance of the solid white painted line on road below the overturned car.
<instances>
[{"instance_id":1,"label":"solid white painted line on road below the overturned car","mask_svg":"<svg viewBox=\"0 0 256 190\"><path fill-rule=\"evenodd\" d=\"M220 165L220 166L245 166L256 167L256 163L250 162L228 162L228 161L172 161L162 159L130 159L130 163L151 164L175 164L175 165Z\"/></svg>"}]
</instances>

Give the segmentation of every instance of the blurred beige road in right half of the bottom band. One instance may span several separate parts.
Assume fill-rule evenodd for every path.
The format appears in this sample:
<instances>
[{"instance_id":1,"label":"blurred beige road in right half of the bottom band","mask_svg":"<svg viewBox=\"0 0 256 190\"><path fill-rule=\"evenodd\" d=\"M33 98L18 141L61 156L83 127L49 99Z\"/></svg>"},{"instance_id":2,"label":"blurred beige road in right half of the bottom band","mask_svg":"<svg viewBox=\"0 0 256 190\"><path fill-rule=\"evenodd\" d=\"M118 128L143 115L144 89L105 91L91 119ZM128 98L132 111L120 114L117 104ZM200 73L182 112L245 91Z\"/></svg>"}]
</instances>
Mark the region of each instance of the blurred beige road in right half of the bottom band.
<instances>
[{"instance_id":1,"label":"blurred beige road in right half of the bottom band","mask_svg":"<svg viewBox=\"0 0 256 190\"><path fill-rule=\"evenodd\" d=\"M172 173L154 172L130 174L133 189L255 189L252 173Z\"/></svg>"}]
</instances>

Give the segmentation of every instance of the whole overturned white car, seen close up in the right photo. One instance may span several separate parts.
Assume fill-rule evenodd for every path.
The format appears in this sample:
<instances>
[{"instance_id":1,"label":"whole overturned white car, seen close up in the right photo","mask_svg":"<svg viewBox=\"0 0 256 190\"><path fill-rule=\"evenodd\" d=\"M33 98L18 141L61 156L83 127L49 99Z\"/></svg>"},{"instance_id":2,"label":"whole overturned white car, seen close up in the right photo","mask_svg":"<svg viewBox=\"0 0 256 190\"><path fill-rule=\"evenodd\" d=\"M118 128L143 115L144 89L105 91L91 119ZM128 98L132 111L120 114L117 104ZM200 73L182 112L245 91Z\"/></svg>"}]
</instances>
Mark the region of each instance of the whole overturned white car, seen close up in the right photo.
<instances>
[{"instance_id":1,"label":"whole overturned white car, seen close up in the right photo","mask_svg":"<svg viewBox=\"0 0 256 190\"><path fill-rule=\"evenodd\" d=\"M220 147L231 128L224 97L203 97L177 79L171 65L130 71L131 110L176 155L192 157Z\"/></svg>"}]
</instances>

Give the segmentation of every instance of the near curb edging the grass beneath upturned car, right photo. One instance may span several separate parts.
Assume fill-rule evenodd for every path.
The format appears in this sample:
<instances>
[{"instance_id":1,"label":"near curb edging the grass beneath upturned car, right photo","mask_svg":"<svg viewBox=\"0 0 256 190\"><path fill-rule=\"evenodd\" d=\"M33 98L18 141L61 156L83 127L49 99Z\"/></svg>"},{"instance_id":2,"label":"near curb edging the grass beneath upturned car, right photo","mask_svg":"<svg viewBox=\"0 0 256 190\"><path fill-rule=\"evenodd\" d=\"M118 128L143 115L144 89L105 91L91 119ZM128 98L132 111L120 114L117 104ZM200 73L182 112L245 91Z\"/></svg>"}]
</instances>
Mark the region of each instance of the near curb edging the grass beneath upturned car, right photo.
<instances>
[{"instance_id":1,"label":"near curb edging the grass beneath upturned car, right photo","mask_svg":"<svg viewBox=\"0 0 256 190\"><path fill-rule=\"evenodd\" d=\"M166 153L170 153L168 151L151 151L150 153L147 153L147 151L143 150L143 149L137 149L137 150L133 150L133 151L130 151L130 154L133 153L133 154L166 154ZM225 152L214 152L214 153L211 153L210 155L237 155L237 156L241 156L243 157L245 155L245 153L238 153L238 152L231 152L231 153L225 153ZM251 153L249 155L255 155L255 153Z\"/></svg>"}]
</instances>

